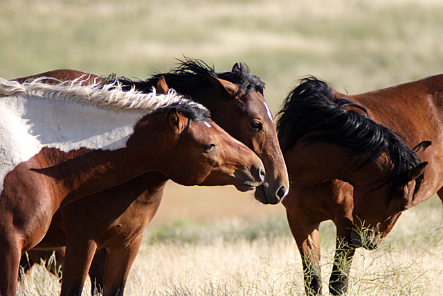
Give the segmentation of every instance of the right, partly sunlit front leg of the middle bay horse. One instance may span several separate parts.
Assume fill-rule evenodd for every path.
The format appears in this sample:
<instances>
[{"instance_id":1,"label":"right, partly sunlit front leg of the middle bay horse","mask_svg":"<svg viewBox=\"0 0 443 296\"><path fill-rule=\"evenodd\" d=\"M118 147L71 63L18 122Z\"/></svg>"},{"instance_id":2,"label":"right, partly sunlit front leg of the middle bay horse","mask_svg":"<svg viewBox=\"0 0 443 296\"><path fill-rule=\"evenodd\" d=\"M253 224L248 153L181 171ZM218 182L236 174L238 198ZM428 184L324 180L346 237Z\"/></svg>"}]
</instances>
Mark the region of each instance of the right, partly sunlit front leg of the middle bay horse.
<instances>
[{"instance_id":1,"label":"right, partly sunlit front leg of the middle bay horse","mask_svg":"<svg viewBox=\"0 0 443 296\"><path fill-rule=\"evenodd\" d=\"M107 247L103 296L123 296L125 284L136 259L143 235L120 247Z\"/></svg>"}]
</instances>

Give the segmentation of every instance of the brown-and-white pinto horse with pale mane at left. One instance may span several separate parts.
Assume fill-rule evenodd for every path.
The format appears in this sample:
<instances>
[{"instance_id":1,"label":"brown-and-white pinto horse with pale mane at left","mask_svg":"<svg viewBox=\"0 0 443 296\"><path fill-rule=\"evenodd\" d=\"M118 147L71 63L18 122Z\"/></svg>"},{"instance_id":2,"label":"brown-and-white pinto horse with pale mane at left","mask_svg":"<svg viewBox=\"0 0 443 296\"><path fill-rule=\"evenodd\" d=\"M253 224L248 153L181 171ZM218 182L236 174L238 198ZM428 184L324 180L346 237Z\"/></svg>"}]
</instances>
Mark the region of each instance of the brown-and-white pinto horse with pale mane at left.
<instances>
[{"instance_id":1,"label":"brown-and-white pinto horse with pale mane at left","mask_svg":"<svg viewBox=\"0 0 443 296\"><path fill-rule=\"evenodd\" d=\"M255 153L172 90L0 79L0 112L0 295L16 294L21 255L70 202L148 172L241 191L264 181Z\"/></svg>"}]
</instances>

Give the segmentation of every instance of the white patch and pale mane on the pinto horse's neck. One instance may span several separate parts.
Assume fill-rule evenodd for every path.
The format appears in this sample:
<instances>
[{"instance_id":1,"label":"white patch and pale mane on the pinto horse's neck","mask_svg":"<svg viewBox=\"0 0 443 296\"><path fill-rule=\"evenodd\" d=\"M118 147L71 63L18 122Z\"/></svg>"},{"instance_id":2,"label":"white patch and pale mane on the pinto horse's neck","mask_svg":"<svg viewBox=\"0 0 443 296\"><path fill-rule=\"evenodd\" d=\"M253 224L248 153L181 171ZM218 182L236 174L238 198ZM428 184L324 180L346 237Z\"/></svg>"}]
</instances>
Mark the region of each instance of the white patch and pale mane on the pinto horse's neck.
<instances>
[{"instance_id":1,"label":"white patch and pale mane on the pinto horse's neck","mask_svg":"<svg viewBox=\"0 0 443 296\"><path fill-rule=\"evenodd\" d=\"M0 78L0 194L6 174L42 148L124 148L143 116L185 100L173 90L143 94L123 92L115 84L48 85L41 80L19 84Z\"/></svg>"}]
</instances>

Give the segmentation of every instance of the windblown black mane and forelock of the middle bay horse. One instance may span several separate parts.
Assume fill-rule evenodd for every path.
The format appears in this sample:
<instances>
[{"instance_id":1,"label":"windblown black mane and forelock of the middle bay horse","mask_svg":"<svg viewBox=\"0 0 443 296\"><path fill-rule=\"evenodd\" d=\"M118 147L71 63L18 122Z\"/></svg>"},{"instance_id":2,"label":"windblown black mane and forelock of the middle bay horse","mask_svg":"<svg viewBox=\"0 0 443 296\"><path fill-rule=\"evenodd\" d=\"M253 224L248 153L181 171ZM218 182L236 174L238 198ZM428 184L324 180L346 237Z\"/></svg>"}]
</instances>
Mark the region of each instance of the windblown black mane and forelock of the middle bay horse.
<instances>
[{"instance_id":1,"label":"windblown black mane and forelock of the middle bay horse","mask_svg":"<svg viewBox=\"0 0 443 296\"><path fill-rule=\"evenodd\" d=\"M253 90L263 94L264 82L259 77L249 73L249 68L244 63L237 63L239 71L230 71L224 73L215 72L214 67L201 60L193 60L185 58L184 61L179 60L181 64L174 69L165 73L156 73L156 75L147 80L130 80L129 78L116 78L113 74L107 79L109 82L118 80L125 88L134 87L138 91L145 92L155 87L157 80L164 76L169 87L175 89L181 94L188 94L193 89L212 85L210 78L221 78L239 85L238 94L246 91L245 95Z\"/></svg>"}]
</instances>

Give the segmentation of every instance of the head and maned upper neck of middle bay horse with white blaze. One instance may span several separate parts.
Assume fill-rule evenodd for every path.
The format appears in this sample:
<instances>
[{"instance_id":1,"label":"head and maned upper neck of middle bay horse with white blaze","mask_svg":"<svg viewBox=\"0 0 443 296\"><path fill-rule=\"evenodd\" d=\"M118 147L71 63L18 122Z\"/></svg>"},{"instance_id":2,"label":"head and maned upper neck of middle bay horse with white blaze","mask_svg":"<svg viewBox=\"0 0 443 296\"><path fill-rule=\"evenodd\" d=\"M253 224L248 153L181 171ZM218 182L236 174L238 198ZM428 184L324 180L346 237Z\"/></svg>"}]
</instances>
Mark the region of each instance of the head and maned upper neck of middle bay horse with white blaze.
<instances>
[{"instance_id":1,"label":"head and maned upper neck of middle bay horse with white blaze","mask_svg":"<svg viewBox=\"0 0 443 296\"><path fill-rule=\"evenodd\" d=\"M272 114L264 101L264 82L249 73L245 64L237 63L231 71L216 73L201 60L186 58L180 62L171 71L147 80L119 78L119 81L146 92L156 87L163 76L169 87L208 107L221 128L262 160L266 177L262 186L257 187L255 198L264 204L280 202L289 191L289 177Z\"/></svg>"}]
</instances>

